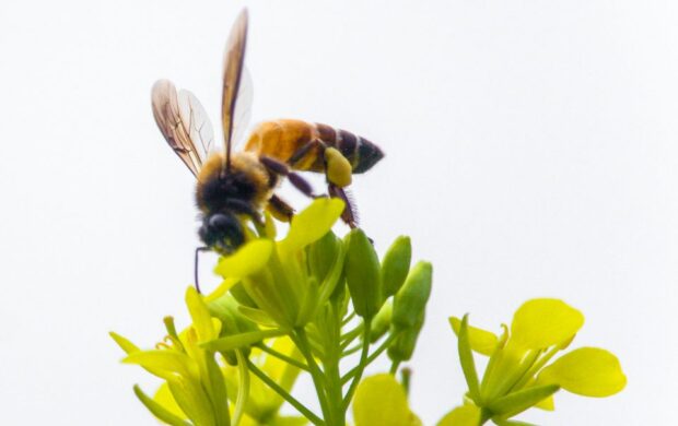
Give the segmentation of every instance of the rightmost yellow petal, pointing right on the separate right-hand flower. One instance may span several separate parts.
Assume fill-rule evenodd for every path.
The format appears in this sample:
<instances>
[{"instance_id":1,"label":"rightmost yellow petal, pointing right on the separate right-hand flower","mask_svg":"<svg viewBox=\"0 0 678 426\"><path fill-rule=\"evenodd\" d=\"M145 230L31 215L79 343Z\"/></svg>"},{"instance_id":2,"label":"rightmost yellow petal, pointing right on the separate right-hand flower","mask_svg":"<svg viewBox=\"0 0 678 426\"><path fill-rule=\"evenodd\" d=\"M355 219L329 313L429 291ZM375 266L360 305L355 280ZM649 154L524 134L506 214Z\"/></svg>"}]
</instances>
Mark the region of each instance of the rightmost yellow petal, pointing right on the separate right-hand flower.
<instances>
[{"instance_id":1,"label":"rightmost yellow petal, pointing right on the separate right-hand flower","mask_svg":"<svg viewBox=\"0 0 678 426\"><path fill-rule=\"evenodd\" d=\"M609 397L621 391L627 377L617 357L598 347L580 347L541 370L540 383L557 383L585 397Z\"/></svg>"}]
</instances>

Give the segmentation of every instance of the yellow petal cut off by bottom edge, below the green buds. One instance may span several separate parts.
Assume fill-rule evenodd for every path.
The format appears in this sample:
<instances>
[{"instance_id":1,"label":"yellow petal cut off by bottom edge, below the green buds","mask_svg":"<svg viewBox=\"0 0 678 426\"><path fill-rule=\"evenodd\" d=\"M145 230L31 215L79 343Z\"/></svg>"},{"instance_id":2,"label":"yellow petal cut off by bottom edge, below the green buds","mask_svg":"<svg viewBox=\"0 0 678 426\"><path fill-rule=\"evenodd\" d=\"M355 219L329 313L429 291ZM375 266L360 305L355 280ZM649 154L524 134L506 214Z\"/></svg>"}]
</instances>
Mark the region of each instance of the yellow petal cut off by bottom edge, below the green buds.
<instances>
[{"instance_id":1,"label":"yellow petal cut off by bottom edge, below the green buds","mask_svg":"<svg viewBox=\"0 0 678 426\"><path fill-rule=\"evenodd\" d=\"M355 426L411 426L417 424L402 386L390 375L367 377L358 386L353 399Z\"/></svg>"}]
</instances>

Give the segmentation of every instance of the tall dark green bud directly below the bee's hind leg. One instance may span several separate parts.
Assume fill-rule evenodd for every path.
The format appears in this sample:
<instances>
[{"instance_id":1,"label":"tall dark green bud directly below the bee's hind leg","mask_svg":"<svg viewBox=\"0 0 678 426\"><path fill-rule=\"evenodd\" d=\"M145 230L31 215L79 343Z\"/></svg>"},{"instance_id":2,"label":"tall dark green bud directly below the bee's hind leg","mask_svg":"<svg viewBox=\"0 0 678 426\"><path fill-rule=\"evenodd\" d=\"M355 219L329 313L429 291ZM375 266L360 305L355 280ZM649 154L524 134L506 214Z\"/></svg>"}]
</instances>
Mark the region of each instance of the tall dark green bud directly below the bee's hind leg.
<instances>
[{"instance_id":1,"label":"tall dark green bud directly below the bee's hind leg","mask_svg":"<svg viewBox=\"0 0 678 426\"><path fill-rule=\"evenodd\" d=\"M344 272L355 313L374 317L382 307L379 260L362 229L349 234Z\"/></svg>"}]
</instances>

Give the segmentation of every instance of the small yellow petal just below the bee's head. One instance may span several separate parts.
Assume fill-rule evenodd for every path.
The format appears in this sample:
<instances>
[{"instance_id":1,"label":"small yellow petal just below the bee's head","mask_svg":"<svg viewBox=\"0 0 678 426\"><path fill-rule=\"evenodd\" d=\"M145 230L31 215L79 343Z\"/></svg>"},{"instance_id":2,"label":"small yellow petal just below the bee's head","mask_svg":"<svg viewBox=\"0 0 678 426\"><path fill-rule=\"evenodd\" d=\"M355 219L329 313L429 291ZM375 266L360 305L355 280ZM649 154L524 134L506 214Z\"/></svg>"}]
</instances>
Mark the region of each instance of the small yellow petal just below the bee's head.
<instances>
[{"instance_id":1,"label":"small yellow petal just below the bee's head","mask_svg":"<svg viewBox=\"0 0 678 426\"><path fill-rule=\"evenodd\" d=\"M221 258L214 272L224 279L242 279L258 272L268 263L273 250L270 239L254 239L233 255Z\"/></svg>"}]
</instances>

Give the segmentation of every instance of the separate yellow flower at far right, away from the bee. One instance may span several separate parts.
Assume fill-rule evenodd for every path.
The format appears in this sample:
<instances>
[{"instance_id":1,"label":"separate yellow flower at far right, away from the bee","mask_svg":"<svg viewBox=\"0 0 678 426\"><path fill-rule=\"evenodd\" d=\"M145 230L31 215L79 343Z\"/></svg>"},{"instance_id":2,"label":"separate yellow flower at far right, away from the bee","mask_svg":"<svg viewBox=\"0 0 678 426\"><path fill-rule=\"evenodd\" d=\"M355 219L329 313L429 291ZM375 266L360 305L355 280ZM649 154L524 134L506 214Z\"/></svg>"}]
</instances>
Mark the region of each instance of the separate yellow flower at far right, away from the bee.
<instances>
[{"instance_id":1,"label":"separate yellow flower at far right, away from the bee","mask_svg":"<svg viewBox=\"0 0 678 426\"><path fill-rule=\"evenodd\" d=\"M587 397L609 397L621 391L627 378L619 360L608 351L581 347L548 364L565 350L584 324L584 316L558 299L526 301L513 317L511 330L498 336L449 318L458 336L459 359L469 387L467 404L440 423L496 424L537 406L553 410L559 389ZM478 379L471 351L490 356L482 380Z\"/></svg>"}]
</instances>

